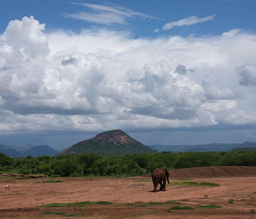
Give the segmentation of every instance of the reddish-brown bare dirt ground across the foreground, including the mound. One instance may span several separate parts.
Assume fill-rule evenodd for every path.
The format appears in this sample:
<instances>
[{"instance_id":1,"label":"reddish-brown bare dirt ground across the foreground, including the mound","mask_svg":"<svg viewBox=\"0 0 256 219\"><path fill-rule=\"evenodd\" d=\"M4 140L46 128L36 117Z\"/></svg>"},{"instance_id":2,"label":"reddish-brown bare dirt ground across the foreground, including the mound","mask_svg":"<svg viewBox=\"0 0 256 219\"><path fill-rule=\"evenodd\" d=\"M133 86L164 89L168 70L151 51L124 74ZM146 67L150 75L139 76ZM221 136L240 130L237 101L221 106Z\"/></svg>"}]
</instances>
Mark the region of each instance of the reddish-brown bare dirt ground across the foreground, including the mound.
<instances>
[{"instance_id":1,"label":"reddish-brown bare dirt ground across the foreground, including the mound","mask_svg":"<svg viewBox=\"0 0 256 219\"><path fill-rule=\"evenodd\" d=\"M59 183L43 183L45 181ZM0 177L0 218L256 218L256 167L197 167L170 170L166 192L153 193L150 174L140 177ZM172 182L214 182L218 187ZM10 185L9 190L5 189ZM158 186L159 189L159 186ZM234 203L228 203L233 199ZM175 200L177 203L166 203ZM49 203L109 201L73 207ZM136 203L140 202L140 203ZM160 202L145 204L148 202ZM144 205L143 205L144 204ZM139 206L136 206L139 205ZM171 209L173 206L194 209ZM197 208L218 205L221 208Z\"/></svg>"}]
</instances>

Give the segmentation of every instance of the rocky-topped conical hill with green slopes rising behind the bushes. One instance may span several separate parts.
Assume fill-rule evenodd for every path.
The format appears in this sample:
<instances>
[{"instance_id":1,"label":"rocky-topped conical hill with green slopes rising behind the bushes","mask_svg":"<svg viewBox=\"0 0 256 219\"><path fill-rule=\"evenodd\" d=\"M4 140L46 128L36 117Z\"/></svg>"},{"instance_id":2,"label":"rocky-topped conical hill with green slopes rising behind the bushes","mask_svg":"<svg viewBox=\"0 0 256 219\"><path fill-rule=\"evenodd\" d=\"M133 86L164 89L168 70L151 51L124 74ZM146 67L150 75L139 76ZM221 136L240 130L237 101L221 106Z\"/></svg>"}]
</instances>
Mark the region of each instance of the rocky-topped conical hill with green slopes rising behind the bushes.
<instances>
[{"instance_id":1,"label":"rocky-topped conical hill with green slopes rising behind the bushes","mask_svg":"<svg viewBox=\"0 0 256 219\"><path fill-rule=\"evenodd\" d=\"M122 130L111 130L99 133L95 137L80 141L60 152L71 154L79 152L95 152L101 155L152 154L157 151L133 139Z\"/></svg>"}]
</instances>

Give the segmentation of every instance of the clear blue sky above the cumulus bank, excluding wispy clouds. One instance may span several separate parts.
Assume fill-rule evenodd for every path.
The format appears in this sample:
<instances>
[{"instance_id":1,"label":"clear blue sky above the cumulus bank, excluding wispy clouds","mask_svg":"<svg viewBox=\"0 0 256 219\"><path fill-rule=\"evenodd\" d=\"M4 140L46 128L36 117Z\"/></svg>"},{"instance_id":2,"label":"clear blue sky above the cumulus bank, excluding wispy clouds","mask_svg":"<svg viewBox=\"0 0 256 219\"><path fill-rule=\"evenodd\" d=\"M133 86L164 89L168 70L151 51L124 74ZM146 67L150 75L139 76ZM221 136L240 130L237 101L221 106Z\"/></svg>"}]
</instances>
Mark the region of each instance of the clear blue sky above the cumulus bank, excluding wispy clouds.
<instances>
[{"instance_id":1,"label":"clear blue sky above the cumulus bank, excluding wispy clouds","mask_svg":"<svg viewBox=\"0 0 256 219\"><path fill-rule=\"evenodd\" d=\"M84 5L83 5L84 4ZM95 11L86 4L95 4L109 8L122 7L120 11L134 11L154 18L144 18L133 15L123 16L126 24L97 24L84 20L67 18L65 14L90 14L104 13ZM40 23L46 24L46 31L65 29L81 31L88 28L108 28L114 30L132 31L134 37L157 37L160 35L188 34L221 34L230 29L243 29L255 31L256 2L253 0L180 0L180 1L66 1L66 0L2 0L1 1L1 33L5 30L10 20L21 19L23 16L33 15ZM126 9L124 9L126 8ZM114 13L113 13L114 14ZM162 30L165 23L178 21L190 16L205 18L215 15L211 22L202 22L196 25L174 27L168 31L153 34L155 29ZM122 16L122 15L121 15Z\"/></svg>"}]
</instances>

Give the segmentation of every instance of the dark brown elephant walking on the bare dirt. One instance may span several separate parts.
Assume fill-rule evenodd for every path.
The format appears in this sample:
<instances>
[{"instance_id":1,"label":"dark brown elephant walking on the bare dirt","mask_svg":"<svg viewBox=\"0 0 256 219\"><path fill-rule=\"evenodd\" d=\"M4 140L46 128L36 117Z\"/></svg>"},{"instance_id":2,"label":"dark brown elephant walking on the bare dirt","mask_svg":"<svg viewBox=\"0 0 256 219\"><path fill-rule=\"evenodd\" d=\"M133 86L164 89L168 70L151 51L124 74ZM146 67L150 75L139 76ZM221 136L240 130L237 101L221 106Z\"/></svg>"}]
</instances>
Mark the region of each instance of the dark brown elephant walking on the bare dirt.
<instances>
[{"instance_id":1,"label":"dark brown elephant walking on the bare dirt","mask_svg":"<svg viewBox=\"0 0 256 219\"><path fill-rule=\"evenodd\" d=\"M169 182L169 170L167 167L160 167L155 170L153 170L151 174L153 184L154 184L154 191L157 192L157 186L160 184L160 191L166 191L165 185L166 185L166 180ZM163 183L162 183L163 181Z\"/></svg>"}]
</instances>

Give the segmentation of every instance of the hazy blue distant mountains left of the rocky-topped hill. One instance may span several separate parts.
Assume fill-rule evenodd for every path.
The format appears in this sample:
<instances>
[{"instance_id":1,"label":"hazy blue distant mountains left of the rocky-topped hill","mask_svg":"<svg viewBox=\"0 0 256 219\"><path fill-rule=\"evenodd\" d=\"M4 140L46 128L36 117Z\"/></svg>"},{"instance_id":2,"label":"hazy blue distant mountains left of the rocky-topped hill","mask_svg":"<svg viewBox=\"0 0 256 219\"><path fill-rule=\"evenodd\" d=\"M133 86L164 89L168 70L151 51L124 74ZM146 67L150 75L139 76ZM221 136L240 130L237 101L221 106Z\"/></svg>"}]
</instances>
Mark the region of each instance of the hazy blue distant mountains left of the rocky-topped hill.
<instances>
[{"instance_id":1,"label":"hazy blue distant mountains left of the rocky-topped hill","mask_svg":"<svg viewBox=\"0 0 256 219\"><path fill-rule=\"evenodd\" d=\"M27 157L27 156L41 156L41 155L49 155L54 156L59 153L59 151L56 151L49 147L48 145L33 145L29 144L22 147L16 147L16 146L7 146L0 144L0 152L3 152L4 154L11 156L11 157Z\"/></svg>"}]
</instances>

